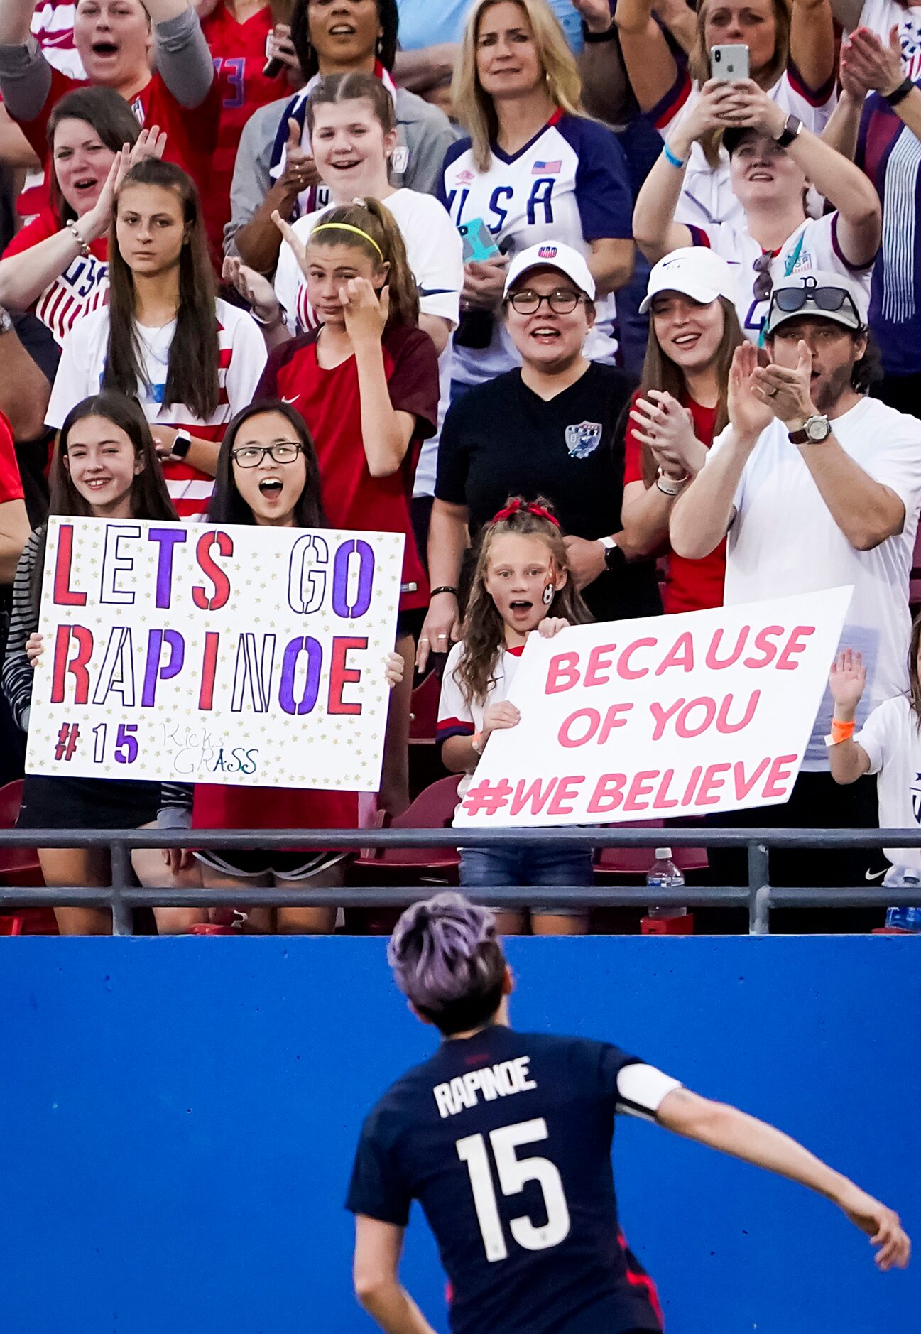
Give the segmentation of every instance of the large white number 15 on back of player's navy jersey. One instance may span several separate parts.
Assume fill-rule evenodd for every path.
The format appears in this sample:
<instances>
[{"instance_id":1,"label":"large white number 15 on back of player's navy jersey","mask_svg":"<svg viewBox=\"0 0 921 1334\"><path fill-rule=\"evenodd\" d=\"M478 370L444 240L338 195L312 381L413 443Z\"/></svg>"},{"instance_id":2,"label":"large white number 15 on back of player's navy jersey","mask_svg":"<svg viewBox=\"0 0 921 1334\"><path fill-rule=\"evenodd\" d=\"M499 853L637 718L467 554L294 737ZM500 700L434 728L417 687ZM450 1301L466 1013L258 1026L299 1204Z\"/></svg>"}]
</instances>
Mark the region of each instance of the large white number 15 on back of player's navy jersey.
<instances>
[{"instance_id":1,"label":"large white number 15 on back of player's navy jersey","mask_svg":"<svg viewBox=\"0 0 921 1334\"><path fill-rule=\"evenodd\" d=\"M533 1121L520 1121L514 1126L502 1126L501 1130L493 1130L489 1135L489 1146L502 1194L517 1195L529 1181L540 1182L544 1193L545 1223L536 1227L526 1214L509 1219L513 1239L525 1250L546 1250L549 1246L557 1246L564 1237L569 1235L569 1209L556 1166L549 1158L518 1158L516 1154L520 1145L533 1145L538 1139L546 1139L546 1122L542 1117L536 1117ZM502 1221L498 1217L485 1137L466 1135L465 1139L457 1141L456 1147L457 1157L466 1163L470 1177L473 1206L486 1259L506 1259L508 1247L502 1234Z\"/></svg>"}]
</instances>

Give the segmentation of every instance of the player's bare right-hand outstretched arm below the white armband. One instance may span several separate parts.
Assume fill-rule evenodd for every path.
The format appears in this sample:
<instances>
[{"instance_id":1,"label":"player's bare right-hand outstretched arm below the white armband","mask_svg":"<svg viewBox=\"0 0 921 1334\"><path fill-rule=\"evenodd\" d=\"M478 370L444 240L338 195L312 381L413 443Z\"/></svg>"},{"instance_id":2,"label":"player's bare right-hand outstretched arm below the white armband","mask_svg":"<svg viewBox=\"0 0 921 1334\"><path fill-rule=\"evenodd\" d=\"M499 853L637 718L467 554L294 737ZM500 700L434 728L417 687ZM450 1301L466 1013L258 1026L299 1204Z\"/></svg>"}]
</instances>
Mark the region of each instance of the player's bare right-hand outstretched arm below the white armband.
<instances>
[{"instance_id":1,"label":"player's bare right-hand outstretched arm below the white armband","mask_svg":"<svg viewBox=\"0 0 921 1334\"><path fill-rule=\"evenodd\" d=\"M841 1209L856 1227L866 1233L877 1247L880 1269L905 1269L912 1254L912 1243L902 1230L898 1214L856 1186L853 1181L833 1171L782 1130L749 1117L737 1107L710 1102L688 1089L674 1089L658 1105L656 1119L666 1130L674 1130L688 1139L697 1139L710 1149L720 1149L756 1167L765 1167L780 1177L789 1177L800 1185L825 1195Z\"/></svg>"}]
</instances>

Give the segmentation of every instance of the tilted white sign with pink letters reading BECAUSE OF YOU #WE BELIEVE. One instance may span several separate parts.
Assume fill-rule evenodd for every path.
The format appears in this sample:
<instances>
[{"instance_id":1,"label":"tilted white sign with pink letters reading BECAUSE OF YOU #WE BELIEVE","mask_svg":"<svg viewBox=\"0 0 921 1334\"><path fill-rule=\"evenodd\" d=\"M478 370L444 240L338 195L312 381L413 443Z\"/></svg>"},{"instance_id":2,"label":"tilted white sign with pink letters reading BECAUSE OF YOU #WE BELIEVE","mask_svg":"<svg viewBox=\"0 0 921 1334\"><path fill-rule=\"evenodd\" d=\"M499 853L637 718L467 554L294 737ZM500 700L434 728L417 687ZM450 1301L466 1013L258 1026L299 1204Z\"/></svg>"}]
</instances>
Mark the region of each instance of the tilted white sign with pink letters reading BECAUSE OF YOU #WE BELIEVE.
<instances>
[{"instance_id":1,"label":"tilted white sign with pink letters reading BECAUSE OF YOU #WE BELIEVE","mask_svg":"<svg viewBox=\"0 0 921 1334\"><path fill-rule=\"evenodd\" d=\"M850 588L532 634L457 826L609 824L785 802Z\"/></svg>"}]
</instances>

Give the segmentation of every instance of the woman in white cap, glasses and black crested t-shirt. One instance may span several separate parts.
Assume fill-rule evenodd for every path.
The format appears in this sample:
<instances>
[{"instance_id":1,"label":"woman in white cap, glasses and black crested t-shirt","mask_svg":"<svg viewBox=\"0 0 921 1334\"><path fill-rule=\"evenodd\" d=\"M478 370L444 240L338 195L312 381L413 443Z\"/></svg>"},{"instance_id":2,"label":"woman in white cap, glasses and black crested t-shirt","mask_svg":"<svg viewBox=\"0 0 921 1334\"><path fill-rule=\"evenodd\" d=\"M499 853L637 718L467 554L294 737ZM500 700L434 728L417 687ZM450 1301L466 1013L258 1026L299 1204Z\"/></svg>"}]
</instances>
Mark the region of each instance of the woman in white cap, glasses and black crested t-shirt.
<instances>
[{"instance_id":1,"label":"woman in white cap, glasses and black crested t-shirt","mask_svg":"<svg viewBox=\"0 0 921 1334\"><path fill-rule=\"evenodd\" d=\"M509 268L505 331L521 366L457 399L441 428L420 670L460 638L466 548L509 495L553 503L569 571L596 620L662 610L654 563L628 564L634 552L620 507L633 382L585 356L594 293L585 259L560 241L532 245Z\"/></svg>"}]
</instances>

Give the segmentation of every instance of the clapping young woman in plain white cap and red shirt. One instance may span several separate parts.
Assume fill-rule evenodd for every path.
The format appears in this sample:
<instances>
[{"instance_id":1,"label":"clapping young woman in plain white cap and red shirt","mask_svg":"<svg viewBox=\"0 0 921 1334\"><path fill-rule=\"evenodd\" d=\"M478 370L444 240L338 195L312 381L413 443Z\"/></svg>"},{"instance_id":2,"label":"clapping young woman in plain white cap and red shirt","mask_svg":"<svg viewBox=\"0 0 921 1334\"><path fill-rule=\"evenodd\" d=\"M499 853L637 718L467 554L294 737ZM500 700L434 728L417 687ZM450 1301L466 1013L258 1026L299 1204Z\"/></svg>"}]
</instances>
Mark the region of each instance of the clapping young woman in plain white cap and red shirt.
<instances>
[{"instance_id":1,"label":"clapping young woman in plain white cap and red shirt","mask_svg":"<svg viewBox=\"0 0 921 1334\"><path fill-rule=\"evenodd\" d=\"M705 247L677 249L649 275L640 309L649 343L624 440L621 519L630 547L668 550L674 500L728 424L729 367L744 342L729 264ZM666 612L722 606L725 540L702 560L669 552Z\"/></svg>"}]
</instances>

